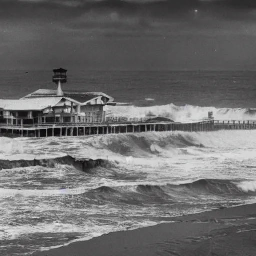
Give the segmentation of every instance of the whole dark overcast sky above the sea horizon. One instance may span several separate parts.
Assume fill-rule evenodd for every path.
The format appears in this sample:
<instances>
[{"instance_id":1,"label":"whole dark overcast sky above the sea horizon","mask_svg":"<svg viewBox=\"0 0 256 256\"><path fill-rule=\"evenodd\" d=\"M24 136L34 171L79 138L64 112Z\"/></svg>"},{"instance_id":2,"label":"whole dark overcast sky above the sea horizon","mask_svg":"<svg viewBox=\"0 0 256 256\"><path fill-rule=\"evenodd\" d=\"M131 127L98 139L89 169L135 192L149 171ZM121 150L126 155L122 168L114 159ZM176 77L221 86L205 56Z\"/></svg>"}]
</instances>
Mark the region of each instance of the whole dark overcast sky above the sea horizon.
<instances>
[{"instance_id":1,"label":"whole dark overcast sky above the sea horizon","mask_svg":"<svg viewBox=\"0 0 256 256\"><path fill-rule=\"evenodd\" d=\"M0 0L0 70L256 70L256 0Z\"/></svg>"}]
</instances>

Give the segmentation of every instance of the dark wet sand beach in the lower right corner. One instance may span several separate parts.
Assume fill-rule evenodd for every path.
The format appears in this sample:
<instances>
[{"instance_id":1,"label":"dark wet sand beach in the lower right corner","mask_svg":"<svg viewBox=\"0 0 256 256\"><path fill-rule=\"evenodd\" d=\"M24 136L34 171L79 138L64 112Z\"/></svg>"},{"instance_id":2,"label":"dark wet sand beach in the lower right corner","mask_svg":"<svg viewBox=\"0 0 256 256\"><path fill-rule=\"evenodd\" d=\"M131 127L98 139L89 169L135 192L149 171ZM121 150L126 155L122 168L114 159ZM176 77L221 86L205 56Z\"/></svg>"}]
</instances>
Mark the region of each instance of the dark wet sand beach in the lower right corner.
<instances>
[{"instance_id":1,"label":"dark wet sand beach in the lower right corner","mask_svg":"<svg viewBox=\"0 0 256 256\"><path fill-rule=\"evenodd\" d=\"M169 218L163 223L74 242L36 256L255 256L256 204Z\"/></svg>"}]
</instances>

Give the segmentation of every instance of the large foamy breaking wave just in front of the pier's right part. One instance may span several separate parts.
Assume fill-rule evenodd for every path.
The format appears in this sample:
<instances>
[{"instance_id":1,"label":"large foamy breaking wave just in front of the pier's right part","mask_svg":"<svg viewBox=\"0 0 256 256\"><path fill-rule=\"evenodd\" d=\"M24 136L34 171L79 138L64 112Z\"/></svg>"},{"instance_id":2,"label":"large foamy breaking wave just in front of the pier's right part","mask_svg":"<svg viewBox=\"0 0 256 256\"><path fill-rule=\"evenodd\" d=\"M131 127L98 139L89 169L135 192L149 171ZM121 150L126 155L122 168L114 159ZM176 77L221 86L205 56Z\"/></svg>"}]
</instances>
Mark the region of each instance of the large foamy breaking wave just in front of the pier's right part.
<instances>
[{"instance_id":1,"label":"large foamy breaking wave just in front of the pier's right part","mask_svg":"<svg viewBox=\"0 0 256 256\"><path fill-rule=\"evenodd\" d=\"M147 132L134 134L110 134L86 139L86 146L122 156L149 158L152 155L173 158L178 155L222 157L226 149L242 149L223 157L245 160L254 158L256 139L254 130L224 130L217 132ZM235 139L234 139L235 138ZM84 143L85 144L85 143ZM100 152L100 151L98 151ZM103 151L102 151L103 153Z\"/></svg>"}]
</instances>

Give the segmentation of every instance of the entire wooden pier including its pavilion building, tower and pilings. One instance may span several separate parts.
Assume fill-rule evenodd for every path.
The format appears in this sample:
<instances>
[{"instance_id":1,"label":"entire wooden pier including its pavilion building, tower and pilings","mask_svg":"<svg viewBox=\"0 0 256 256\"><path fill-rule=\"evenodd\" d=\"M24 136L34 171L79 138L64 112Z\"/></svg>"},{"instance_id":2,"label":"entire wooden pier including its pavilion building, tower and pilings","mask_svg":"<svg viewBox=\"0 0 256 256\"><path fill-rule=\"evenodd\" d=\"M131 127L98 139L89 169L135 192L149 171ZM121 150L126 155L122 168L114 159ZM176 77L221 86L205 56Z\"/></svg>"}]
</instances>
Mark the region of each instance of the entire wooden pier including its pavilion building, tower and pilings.
<instances>
[{"instance_id":1,"label":"entire wooden pier including its pavilion building, tower and pilings","mask_svg":"<svg viewBox=\"0 0 256 256\"><path fill-rule=\"evenodd\" d=\"M102 92L62 90L67 70L53 69L57 89L38 89L20 99L0 99L0 136L67 137L99 134L255 129L255 121L214 120L208 118L174 122L161 116L128 118L107 114L114 98Z\"/></svg>"}]
</instances>

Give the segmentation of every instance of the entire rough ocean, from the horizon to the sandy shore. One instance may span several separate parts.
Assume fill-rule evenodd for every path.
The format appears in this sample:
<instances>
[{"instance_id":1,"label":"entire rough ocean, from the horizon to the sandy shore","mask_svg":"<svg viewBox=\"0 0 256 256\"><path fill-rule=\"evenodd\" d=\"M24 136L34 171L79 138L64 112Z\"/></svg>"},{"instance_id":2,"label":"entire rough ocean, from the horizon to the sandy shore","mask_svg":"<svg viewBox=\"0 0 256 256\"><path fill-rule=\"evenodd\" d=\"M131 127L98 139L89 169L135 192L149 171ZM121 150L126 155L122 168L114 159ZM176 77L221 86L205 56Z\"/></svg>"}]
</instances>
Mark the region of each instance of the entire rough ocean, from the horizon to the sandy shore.
<instances>
[{"instance_id":1,"label":"entire rough ocean, from the horizon to the sandy shore","mask_svg":"<svg viewBox=\"0 0 256 256\"><path fill-rule=\"evenodd\" d=\"M187 121L213 111L217 120L256 120L256 72L67 74L63 90L114 97L117 105L107 107L112 116ZM55 88L51 76L0 71L0 98ZM0 137L0 255L30 255L256 202L255 148L255 130ZM102 160L83 170L86 159Z\"/></svg>"}]
</instances>

